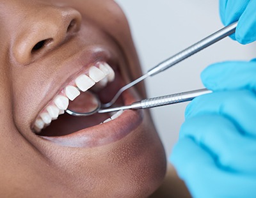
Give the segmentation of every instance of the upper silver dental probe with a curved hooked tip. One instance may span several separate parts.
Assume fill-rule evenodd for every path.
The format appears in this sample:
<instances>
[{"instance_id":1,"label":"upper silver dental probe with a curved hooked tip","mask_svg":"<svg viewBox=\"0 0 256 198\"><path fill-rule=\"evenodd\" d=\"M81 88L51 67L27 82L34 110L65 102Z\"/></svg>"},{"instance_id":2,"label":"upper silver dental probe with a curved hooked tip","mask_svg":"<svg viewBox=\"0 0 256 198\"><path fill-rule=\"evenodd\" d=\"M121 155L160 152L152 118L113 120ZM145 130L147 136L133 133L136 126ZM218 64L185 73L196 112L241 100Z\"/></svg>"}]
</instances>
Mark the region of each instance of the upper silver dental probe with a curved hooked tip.
<instances>
[{"instance_id":1,"label":"upper silver dental probe with a curved hooked tip","mask_svg":"<svg viewBox=\"0 0 256 198\"><path fill-rule=\"evenodd\" d=\"M129 84L125 85L123 88L121 88L116 95L113 97L113 99L105 104L102 104L103 108L110 107L113 105L113 103L116 102L118 97L127 89L131 88L132 86L138 84L142 80L145 80L149 76L156 75L157 73L163 72L164 70L170 68L173 65L176 65L180 61L183 61L184 59L188 58L189 56L192 56L193 54L196 54L196 52L199 52L202 49L205 49L206 47L209 47L213 43L216 43L220 41L221 39L229 36L230 34L234 33L236 31L237 22L234 22L233 24L230 24L229 26L223 27L219 31L216 31L215 33L211 34L210 36L207 36L200 42L195 43L194 45L191 45L187 49L182 50L181 52L175 54L174 56L166 59L165 61L159 63L159 65L155 66L151 70L149 70L147 73L139 77L138 79L130 82Z\"/></svg>"}]
</instances>

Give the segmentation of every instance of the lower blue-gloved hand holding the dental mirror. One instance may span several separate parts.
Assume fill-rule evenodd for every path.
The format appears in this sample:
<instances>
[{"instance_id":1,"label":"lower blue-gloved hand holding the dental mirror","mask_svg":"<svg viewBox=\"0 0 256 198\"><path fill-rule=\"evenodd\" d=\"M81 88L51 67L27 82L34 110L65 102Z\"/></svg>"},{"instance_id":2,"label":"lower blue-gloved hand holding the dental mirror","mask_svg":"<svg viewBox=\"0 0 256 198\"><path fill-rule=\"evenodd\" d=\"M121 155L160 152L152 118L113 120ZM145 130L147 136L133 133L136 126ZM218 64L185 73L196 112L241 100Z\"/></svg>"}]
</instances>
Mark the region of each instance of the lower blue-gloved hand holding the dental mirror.
<instances>
[{"instance_id":1,"label":"lower blue-gloved hand holding the dental mirror","mask_svg":"<svg viewBox=\"0 0 256 198\"><path fill-rule=\"evenodd\" d=\"M202 72L213 93L189 103L170 162L193 197L256 196L256 62Z\"/></svg>"}]
</instances>

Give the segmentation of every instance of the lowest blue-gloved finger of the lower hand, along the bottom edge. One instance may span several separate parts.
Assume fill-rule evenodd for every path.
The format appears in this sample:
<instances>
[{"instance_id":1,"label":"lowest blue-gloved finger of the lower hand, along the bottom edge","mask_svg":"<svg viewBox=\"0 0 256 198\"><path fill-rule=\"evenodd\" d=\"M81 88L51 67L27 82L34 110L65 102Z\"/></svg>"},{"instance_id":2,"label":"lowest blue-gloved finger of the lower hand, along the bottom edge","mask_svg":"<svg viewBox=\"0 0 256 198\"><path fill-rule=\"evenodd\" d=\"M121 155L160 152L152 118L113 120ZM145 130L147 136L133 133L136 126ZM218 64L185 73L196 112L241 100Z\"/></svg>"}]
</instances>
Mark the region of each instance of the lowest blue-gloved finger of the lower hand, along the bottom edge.
<instances>
[{"instance_id":1,"label":"lowest blue-gloved finger of the lower hand, along the bottom edge","mask_svg":"<svg viewBox=\"0 0 256 198\"><path fill-rule=\"evenodd\" d=\"M190 138L174 146L170 162L193 197L254 197L255 174L220 169L207 150Z\"/></svg>"}]
</instances>

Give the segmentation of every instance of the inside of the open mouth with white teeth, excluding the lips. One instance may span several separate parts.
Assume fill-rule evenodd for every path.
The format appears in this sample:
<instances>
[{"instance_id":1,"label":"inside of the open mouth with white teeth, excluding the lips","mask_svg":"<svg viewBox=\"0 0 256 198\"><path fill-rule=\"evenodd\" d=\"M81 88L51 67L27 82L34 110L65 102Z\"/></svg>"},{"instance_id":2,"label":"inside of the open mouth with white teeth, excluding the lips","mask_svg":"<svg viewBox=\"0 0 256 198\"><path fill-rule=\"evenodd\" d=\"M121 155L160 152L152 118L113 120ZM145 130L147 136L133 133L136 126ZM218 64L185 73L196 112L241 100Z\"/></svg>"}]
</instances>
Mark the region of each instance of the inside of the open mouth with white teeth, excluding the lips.
<instances>
[{"instance_id":1,"label":"inside of the open mouth with white teeth, excluding the lips","mask_svg":"<svg viewBox=\"0 0 256 198\"><path fill-rule=\"evenodd\" d=\"M109 121L114 121L122 116L122 111L111 114L96 113L92 116L76 117L65 113L65 110L71 107L76 112L83 112L84 109L94 107L95 98L92 96L92 93L93 95L97 95L100 102L109 102L122 86L124 86L124 80L118 68L113 69L106 62L95 63L88 70L80 73L71 80L41 110L32 126L32 130L42 137L61 138L91 128L92 126L100 126L102 123L104 125ZM131 100L135 100L134 98L136 97L131 92L124 93L123 96L120 96L116 104L124 105L127 102L131 102ZM100 130L105 130L105 128Z\"/></svg>"}]
</instances>

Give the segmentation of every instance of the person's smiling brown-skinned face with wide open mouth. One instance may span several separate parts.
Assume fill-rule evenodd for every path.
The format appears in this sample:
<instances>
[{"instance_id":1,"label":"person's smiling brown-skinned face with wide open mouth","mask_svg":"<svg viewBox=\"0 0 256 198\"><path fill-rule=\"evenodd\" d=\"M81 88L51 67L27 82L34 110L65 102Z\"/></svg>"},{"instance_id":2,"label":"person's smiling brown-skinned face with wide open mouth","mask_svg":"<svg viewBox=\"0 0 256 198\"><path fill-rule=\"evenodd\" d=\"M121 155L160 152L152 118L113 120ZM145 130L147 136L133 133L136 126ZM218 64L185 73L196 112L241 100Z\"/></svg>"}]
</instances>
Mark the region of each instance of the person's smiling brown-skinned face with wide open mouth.
<instances>
[{"instance_id":1,"label":"person's smiling brown-skinned face with wide open mouth","mask_svg":"<svg viewBox=\"0 0 256 198\"><path fill-rule=\"evenodd\" d=\"M103 124L112 115L58 116L68 103L90 106L88 88L109 102L141 75L116 3L0 0L0 25L1 196L146 197L156 190L166 162L148 112L125 110ZM142 97L140 86L118 103Z\"/></svg>"}]
</instances>

